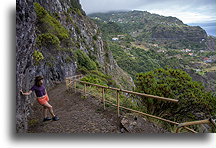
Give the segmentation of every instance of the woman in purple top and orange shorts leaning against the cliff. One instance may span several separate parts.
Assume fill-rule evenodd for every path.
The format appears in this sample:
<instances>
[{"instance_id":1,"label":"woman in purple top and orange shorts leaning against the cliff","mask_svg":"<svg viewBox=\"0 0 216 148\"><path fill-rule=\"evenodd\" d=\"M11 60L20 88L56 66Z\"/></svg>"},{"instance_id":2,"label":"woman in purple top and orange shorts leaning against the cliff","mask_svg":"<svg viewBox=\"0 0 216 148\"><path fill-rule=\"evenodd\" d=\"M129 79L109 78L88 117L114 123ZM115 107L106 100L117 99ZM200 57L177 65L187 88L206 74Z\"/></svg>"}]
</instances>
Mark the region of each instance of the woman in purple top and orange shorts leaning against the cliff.
<instances>
[{"instance_id":1,"label":"woman in purple top and orange shorts leaning against the cliff","mask_svg":"<svg viewBox=\"0 0 216 148\"><path fill-rule=\"evenodd\" d=\"M24 93L22 90L20 90L20 92L22 93L22 95L28 96L33 91L35 91L38 103L44 107L44 110L43 110L43 114L44 114L43 122L49 121L49 120L57 121L57 120L59 120L59 118L54 114L53 107L48 103L49 97L48 97L46 88L43 85L43 79L44 78L42 76L35 77L34 86L28 92ZM47 116L47 111L48 110L49 110L50 114L52 115L52 119Z\"/></svg>"}]
</instances>

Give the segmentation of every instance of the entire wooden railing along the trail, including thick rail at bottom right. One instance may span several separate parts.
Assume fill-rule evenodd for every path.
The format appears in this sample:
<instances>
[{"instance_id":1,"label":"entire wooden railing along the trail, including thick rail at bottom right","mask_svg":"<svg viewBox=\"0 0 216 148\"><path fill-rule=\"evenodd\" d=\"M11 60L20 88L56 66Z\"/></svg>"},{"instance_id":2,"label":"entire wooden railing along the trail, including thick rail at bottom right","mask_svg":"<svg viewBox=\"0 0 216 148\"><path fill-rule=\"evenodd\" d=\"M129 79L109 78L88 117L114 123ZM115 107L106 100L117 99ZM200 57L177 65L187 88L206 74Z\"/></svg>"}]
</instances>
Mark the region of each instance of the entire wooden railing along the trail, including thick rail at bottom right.
<instances>
[{"instance_id":1,"label":"entire wooden railing along the trail, including thick rail at bottom right","mask_svg":"<svg viewBox=\"0 0 216 148\"><path fill-rule=\"evenodd\" d=\"M117 116L118 117L120 117L120 109L131 111L131 112L143 115L143 116L147 116L147 117L150 117L150 118L153 118L153 119L157 119L157 120L160 120L160 121L164 121L164 122L176 125L177 126L176 133L179 133L182 128L184 128L184 129L186 129L186 130L188 130L188 131L190 131L192 133L197 133L195 130L187 127L187 126L190 126L190 125L213 124L214 127L216 127L215 119L214 120L211 119L211 120L201 120L201 121L194 121L194 122L178 123L178 122L175 122L175 121L164 119L162 117L158 117L158 116L155 116L155 115L147 114L145 112L134 110L132 108L127 108L125 106L121 106L120 105L120 93L121 92L127 93L127 94L136 95L136 96L141 96L141 97L148 97L148 98L152 98L152 99L158 99L160 101L168 101L168 102L172 102L172 103L178 103L178 100L171 99L171 98L154 96L154 95L149 95L149 94L145 94L145 93L138 93L138 92L134 92L134 91L123 90L123 89L109 87L109 86L103 86L103 85L93 84L93 83L89 83L89 82L85 82L85 81L80 81L80 79L83 78L83 77L84 77L83 75L76 75L76 76L73 76L73 77L67 77L66 78L66 87L67 87L67 90L70 91L70 90L73 89L75 92L77 92L77 83L80 83L80 84L84 85L84 87L83 87L83 94L84 94L84 97L86 98L87 97L87 86L95 86L97 88L100 88L101 89L101 98L102 98L101 100L102 100L102 103L103 103L104 110L106 108L106 104L110 104L112 106L115 106L116 109L117 109ZM115 98L116 98L115 102L116 102L116 104L113 103L112 101L106 99L106 97L105 97L105 90L115 91L115 93L116 93L116 95L115 95Z\"/></svg>"}]
</instances>

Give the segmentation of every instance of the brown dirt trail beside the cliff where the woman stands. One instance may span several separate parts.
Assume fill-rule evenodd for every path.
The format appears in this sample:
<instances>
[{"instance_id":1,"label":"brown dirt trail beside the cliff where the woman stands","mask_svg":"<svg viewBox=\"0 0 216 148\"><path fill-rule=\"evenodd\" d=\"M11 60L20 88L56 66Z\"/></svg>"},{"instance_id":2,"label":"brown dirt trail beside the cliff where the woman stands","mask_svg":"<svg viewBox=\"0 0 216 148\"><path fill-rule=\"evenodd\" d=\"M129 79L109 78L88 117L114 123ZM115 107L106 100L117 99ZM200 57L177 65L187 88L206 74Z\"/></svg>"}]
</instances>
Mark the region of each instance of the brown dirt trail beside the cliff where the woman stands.
<instances>
[{"instance_id":1,"label":"brown dirt trail beside the cliff where the woman stands","mask_svg":"<svg viewBox=\"0 0 216 148\"><path fill-rule=\"evenodd\" d=\"M104 111L97 98L89 96L85 99L80 93L69 93L63 83L50 90L48 95L60 120L42 122L43 108L35 102L29 119L29 133L121 133L116 111L113 108ZM152 131L160 132L155 128Z\"/></svg>"}]
</instances>

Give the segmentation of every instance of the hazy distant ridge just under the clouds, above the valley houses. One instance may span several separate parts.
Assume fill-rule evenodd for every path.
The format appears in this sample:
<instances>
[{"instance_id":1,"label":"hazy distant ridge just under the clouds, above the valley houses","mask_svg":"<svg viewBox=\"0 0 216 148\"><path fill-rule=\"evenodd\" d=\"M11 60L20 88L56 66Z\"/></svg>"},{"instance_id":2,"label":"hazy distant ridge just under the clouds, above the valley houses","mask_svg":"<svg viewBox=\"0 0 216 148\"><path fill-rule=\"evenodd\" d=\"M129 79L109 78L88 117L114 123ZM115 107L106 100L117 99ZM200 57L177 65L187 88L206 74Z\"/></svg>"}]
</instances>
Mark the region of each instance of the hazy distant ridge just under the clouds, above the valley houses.
<instances>
[{"instance_id":1,"label":"hazy distant ridge just under the clouds, above the valley houses","mask_svg":"<svg viewBox=\"0 0 216 148\"><path fill-rule=\"evenodd\" d=\"M165 17L146 11L94 13L89 15L104 24L116 23L121 32L130 34L139 41L157 41L161 46L173 49L206 49L207 34L199 26L189 26L176 17Z\"/></svg>"}]
</instances>

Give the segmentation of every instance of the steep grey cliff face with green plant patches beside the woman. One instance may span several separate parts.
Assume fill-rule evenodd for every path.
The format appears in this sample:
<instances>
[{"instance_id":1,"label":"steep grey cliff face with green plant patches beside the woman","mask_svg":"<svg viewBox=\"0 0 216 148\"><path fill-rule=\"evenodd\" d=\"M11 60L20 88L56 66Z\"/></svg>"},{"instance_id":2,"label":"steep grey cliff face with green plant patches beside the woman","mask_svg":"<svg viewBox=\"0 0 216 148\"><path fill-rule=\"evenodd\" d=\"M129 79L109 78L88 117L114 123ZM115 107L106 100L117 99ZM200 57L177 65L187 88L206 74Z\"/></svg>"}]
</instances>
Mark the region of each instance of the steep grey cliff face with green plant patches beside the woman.
<instances>
[{"instance_id":1,"label":"steep grey cliff face with green plant patches beside the woman","mask_svg":"<svg viewBox=\"0 0 216 148\"><path fill-rule=\"evenodd\" d=\"M101 71L121 84L130 77L116 64L98 27L85 15L79 0L17 0L16 129L25 132L34 96L24 97L34 77L43 75L49 88L77 73L74 51L80 49L99 63ZM120 75L116 77L115 75ZM132 86L132 81L128 82Z\"/></svg>"}]
</instances>

